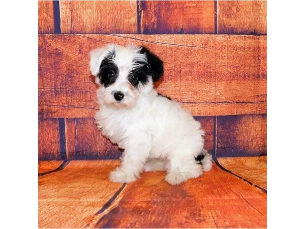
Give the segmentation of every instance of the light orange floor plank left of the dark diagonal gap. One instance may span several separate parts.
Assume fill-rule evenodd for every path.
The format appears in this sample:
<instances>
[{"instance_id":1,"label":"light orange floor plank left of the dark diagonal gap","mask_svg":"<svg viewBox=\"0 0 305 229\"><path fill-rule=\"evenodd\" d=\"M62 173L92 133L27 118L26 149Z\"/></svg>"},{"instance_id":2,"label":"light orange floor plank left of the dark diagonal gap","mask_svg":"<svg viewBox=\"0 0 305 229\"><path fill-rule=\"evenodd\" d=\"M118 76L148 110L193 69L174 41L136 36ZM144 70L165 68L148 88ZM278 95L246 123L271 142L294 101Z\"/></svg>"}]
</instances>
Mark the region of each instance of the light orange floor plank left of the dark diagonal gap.
<instances>
[{"instance_id":1,"label":"light orange floor plank left of the dark diagonal gap","mask_svg":"<svg viewBox=\"0 0 305 229\"><path fill-rule=\"evenodd\" d=\"M108 181L117 161L71 161L38 179L39 228L84 228L122 186Z\"/></svg>"}]
</instances>

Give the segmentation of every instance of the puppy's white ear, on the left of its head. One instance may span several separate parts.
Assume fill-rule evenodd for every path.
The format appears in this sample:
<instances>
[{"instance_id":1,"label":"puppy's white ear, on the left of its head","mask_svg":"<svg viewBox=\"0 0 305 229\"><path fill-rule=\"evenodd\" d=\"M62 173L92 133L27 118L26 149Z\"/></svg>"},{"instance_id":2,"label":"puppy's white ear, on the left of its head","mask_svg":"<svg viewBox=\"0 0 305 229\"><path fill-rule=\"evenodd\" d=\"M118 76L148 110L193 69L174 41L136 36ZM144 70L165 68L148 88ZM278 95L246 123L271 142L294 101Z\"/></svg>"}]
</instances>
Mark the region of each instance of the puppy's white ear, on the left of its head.
<instances>
[{"instance_id":1,"label":"puppy's white ear, on the left of its head","mask_svg":"<svg viewBox=\"0 0 305 229\"><path fill-rule=\"evenodd\" d=\"M115 44L109 44L102 48L97 48L90 51L90 72L94 76L100 73L100 65L104 58L115 55Z\"/></svg>"}]
</instances>

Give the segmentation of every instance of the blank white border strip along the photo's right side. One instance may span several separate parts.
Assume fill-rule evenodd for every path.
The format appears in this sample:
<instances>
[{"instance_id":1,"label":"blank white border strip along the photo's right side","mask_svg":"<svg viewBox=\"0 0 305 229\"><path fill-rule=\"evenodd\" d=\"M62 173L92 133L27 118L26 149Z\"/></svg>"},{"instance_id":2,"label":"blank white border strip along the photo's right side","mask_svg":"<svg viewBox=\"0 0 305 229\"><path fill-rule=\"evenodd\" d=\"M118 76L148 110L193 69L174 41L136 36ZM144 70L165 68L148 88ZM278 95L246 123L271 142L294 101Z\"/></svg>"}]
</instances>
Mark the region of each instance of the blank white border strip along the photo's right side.
<instances>
[{"instance_id":1,"label":"blank white border strip along the photo's right side","mask_svg":"<svg viewBox=\"0 0 305 229\"><path fill-rule=\"evenodd\" d=\"M268 228L303 228L304 4L267 2Z\"/></svg>"}]
</instances>

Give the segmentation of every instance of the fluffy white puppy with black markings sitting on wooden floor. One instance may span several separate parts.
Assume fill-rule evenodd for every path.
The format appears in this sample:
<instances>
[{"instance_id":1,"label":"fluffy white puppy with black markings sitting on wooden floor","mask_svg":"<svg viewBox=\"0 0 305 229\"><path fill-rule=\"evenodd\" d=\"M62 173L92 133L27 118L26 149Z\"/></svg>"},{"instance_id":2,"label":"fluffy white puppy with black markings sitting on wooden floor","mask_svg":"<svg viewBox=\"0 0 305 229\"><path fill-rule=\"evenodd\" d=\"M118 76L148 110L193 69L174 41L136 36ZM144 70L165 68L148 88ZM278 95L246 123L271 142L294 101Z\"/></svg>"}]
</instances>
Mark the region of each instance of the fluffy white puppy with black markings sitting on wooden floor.
<instances>
[{"instance_id":1,"label":"fluffy white puppy with black markings sitting on wooden floor","mask_svg":"<svg viewBox=\"0 0 305 229\"><path fill-rule=\"evenodd\" d=\"M100 86L95 119L104 136L124 149L113 182L132 182L142 171L166 170L172 185L199 177L212 165L201 124L153 82L163 62L145 47L110 44L90 53L90 71Z\"/></svg>"}]
</instances>

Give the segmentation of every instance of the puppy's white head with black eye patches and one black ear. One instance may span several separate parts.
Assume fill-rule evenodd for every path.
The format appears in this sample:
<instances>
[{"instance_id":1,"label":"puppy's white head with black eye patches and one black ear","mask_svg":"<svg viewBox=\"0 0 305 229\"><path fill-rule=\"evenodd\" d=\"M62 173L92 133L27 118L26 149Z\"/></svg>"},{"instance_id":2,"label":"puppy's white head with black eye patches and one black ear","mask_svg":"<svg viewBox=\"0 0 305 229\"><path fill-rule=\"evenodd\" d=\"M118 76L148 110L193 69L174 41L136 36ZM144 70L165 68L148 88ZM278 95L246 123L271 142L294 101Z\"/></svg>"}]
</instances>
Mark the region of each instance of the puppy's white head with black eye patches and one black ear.
<instances>
[{"instance_id":1,"label":"puppy's white head with black eye patches and one black ear","mask_svg":"<svg viewBox=\"0 0 305 229\"><path fill-rule=\"evenodd\" d=\"M110 44L90 52L90 71L100 85L98 97L118 107L133 107L141 93L163 75L163 62L145 47Z\"/></svg>"}]
</instances>

